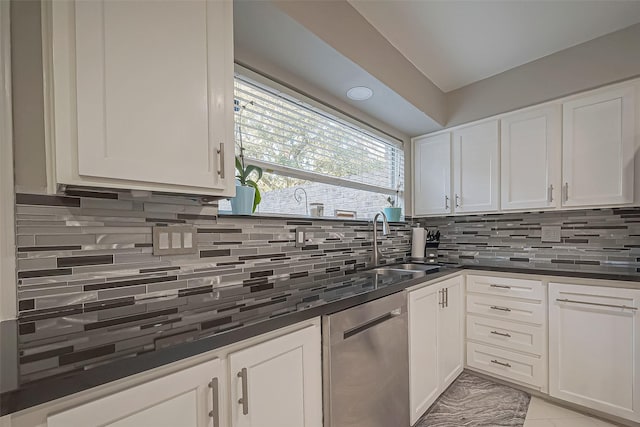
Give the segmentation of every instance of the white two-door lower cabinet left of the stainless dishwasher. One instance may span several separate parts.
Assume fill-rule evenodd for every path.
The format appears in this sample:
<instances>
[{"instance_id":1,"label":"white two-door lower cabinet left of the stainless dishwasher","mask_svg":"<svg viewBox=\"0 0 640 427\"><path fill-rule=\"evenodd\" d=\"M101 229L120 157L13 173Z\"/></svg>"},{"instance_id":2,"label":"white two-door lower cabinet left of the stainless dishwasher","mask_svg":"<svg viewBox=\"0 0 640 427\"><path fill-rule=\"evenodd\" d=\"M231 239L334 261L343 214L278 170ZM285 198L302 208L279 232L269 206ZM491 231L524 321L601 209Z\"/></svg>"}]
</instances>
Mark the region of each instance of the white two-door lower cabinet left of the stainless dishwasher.
<instances>
[{"instance_id":1,"label":"white two-door lower cabinet left of the stainless dishwasher","mask_svg":"<svg viewBox=\"0 0 640 427\"><path fill-rule=\"evenodd\" d=\"M48 415L46 427L322 427L320 339L314 321Z\"/></svg>"}]
</instances>

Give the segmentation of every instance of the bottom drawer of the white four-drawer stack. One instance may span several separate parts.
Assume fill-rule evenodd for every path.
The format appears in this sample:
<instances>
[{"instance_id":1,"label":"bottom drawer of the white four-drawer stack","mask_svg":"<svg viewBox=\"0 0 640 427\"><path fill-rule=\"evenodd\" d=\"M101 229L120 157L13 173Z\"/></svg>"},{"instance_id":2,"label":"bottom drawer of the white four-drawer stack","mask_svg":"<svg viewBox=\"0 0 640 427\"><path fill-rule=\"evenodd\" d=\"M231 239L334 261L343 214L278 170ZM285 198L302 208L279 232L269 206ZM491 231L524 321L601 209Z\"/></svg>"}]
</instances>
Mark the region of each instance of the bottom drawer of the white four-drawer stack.
<instances>
[{"instance_id":1,"label":"bottom drawer of the white four-drawer stack","mask_svg":"<svg viewBox=\"0 0 640 427\"><path fill-rule=\"evenodd\" d=\"M546 389L542 358L525 356L484 344L467 343L467 365L506 379Z\"/></svg>"}]
</instances>

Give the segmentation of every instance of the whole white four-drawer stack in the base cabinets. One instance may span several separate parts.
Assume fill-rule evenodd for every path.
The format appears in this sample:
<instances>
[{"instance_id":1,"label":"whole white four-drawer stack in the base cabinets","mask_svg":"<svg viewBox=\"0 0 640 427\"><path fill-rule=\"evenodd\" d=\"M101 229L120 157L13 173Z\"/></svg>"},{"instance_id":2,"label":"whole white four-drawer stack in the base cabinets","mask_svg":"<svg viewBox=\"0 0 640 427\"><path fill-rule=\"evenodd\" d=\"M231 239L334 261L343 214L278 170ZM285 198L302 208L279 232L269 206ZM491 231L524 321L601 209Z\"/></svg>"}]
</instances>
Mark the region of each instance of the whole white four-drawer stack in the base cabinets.
<instances>
[{"instance_id":1,"label":"whole white four-drawer stack in the base cabinets","mask_svg":"<svg viewBox=\"0 0 640 427\"><path fill-rule=\"evenodd\" d=\"M467 366L547 391L542 282L467 276Z\"/></svg>"}]
</instances>

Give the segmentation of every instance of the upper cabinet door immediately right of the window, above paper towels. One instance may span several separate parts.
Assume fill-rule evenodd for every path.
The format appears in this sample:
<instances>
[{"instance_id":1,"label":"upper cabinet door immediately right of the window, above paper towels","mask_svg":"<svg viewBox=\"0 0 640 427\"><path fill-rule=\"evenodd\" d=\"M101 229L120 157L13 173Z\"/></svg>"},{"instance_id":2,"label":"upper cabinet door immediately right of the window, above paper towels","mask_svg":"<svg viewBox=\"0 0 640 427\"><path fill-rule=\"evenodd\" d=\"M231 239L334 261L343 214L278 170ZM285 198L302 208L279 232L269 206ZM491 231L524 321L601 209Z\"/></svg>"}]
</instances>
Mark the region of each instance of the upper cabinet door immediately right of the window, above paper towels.
<instances>
[{"instance_id":1,"label":"upper cabinet door immediately right of the window, above paper towels","mask_svg":"<svg viewBox=\"0 0 640 427\"><path fill-rule=\"evenodd\" d=\"M450 214L451 133L414 140L414 213Z\"/></svg>"}]
</instances>

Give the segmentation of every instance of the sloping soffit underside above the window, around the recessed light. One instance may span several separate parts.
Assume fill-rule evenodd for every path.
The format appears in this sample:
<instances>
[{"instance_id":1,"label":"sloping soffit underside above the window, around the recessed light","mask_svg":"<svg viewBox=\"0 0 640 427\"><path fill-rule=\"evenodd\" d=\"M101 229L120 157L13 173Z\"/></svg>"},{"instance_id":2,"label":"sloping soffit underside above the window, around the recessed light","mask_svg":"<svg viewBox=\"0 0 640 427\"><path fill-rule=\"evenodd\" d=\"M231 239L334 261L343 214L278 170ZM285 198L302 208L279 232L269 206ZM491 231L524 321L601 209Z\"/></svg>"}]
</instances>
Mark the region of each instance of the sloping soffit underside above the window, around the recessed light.
<instances>
[{"instance_id":1,"label":"sloping soffit underside above the window, around the recessed light","mask_svg":"<svg viewBox=\"0 0 640 427\"><path fill-rule=\"evenodd\" d=\"M271 2L235 1L233 7L237 49L277 65L407 135L441 128ZM354 86L373 89L373 97L366 101L347 98L347 90Z\"/></svg>"}]
</instances>

